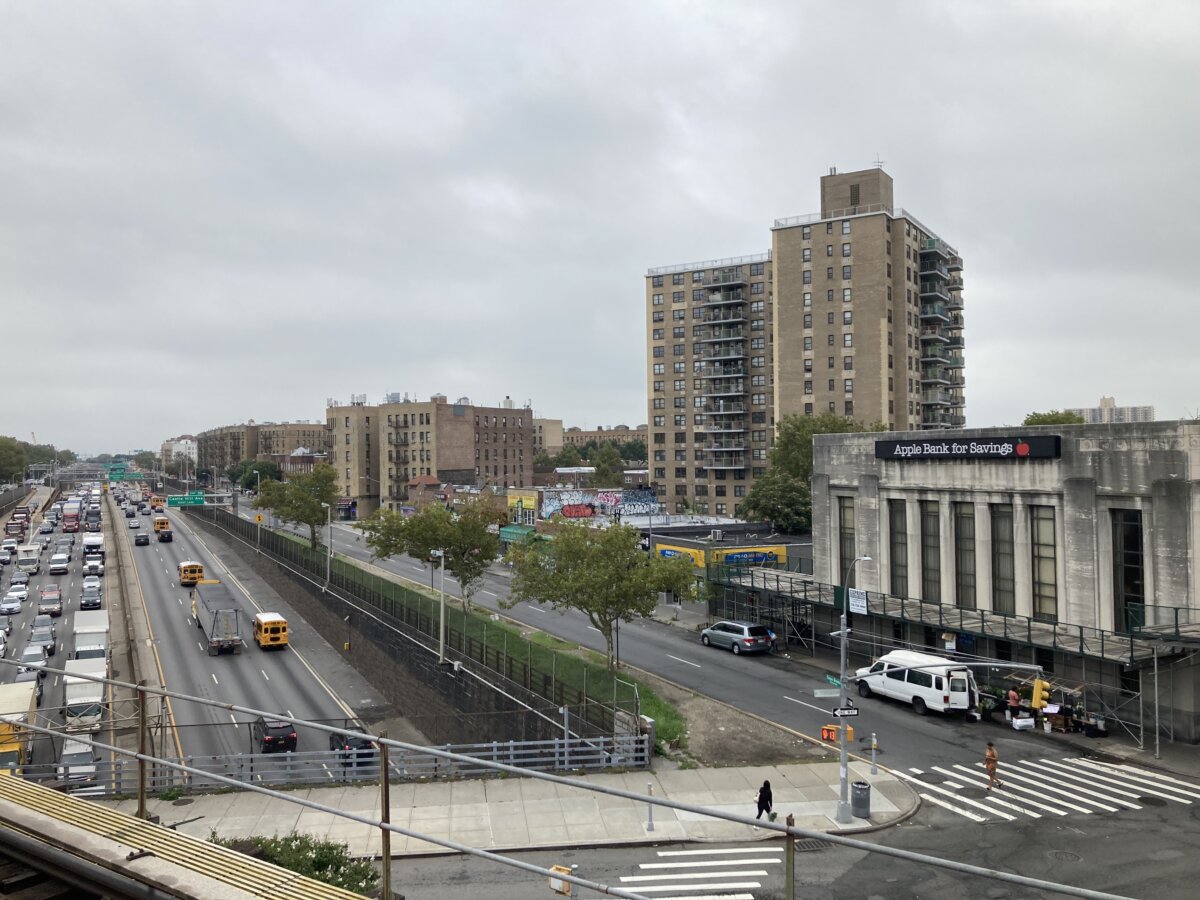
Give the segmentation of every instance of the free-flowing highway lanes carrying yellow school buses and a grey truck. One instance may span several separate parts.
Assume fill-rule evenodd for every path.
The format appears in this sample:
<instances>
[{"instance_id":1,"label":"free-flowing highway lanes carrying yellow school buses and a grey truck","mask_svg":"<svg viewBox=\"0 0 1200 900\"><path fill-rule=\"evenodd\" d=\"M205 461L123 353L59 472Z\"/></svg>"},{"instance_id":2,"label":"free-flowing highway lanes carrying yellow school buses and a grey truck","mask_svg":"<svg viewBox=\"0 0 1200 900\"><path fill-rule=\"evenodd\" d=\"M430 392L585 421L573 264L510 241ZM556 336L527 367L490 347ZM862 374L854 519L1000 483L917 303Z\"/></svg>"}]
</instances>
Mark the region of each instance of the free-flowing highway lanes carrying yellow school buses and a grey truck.
<instances>
[{"instance_id":1,"label":"free-flowing highway lanes carrying yellow school buses and a grey truck","mask_svg":"<svg viewBox=\"0 0 1200 900\"><path fill-rule=\"evenodd\" d=\"M115 505L114 505L115 508ZM138 515L127 520L118 512L116 530L126 529L119 540L132 542L138 529L127 528L138 521L151 528L151 517ZM160 542L151 538L146 546L131 547L136 564L133 581L145 601L146 617L167 686L209 700L286 713L300 719L343 724L354 710L341 701L306 662L311 649L293 630L287 650L264 652L253 642L251 622L254 613L269 612L259 606L250 590L209 551L184 516L166 510L174 540ZM191 614L188 588L180 587L178 565L185 559L204 564L205 577L220 584L204 584L197 590L223 593L241 608L241 653L210 656L202 642L203 632ZM198 703L173 703L175 725L185 756L224 756L258 752L253 745L250 716ZM301 727L298 750L326 750L328 737Z\"/></svg>"}]
</instances>

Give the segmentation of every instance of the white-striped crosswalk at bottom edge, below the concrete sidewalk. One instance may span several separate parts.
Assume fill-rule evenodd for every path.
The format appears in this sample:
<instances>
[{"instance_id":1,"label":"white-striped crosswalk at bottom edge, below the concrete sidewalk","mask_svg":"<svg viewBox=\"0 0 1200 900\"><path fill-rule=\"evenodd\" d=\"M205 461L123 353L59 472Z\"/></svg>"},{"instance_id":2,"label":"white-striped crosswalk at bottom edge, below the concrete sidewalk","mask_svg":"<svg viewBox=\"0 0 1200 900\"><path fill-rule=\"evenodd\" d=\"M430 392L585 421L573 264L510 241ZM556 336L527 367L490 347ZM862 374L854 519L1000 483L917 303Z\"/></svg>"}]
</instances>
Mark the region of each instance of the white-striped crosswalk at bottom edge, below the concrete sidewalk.
<instances>
[{"instance_id":1,"label":"white-striped crosswalk at bottom edge, below the concrete sidewalk","mask_svg":"<svg viewBox=\"0 0 1200 900\"><path fill-rule=\"evenodd\" d=\"M641 863L620 887L655 900L755 900L763 880L782 877L782 847L660 850L656 862Z\"/></svg>"}]
</instances>

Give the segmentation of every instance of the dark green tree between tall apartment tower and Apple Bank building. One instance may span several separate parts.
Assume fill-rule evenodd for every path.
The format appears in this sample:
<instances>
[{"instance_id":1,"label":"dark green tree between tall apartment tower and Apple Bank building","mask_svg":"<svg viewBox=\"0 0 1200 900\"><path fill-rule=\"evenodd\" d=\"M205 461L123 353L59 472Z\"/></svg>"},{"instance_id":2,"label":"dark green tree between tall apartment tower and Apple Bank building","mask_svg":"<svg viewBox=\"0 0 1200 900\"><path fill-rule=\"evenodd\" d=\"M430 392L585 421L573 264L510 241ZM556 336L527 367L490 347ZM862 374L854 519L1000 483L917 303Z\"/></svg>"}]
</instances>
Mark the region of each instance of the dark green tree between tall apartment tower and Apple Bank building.
<instances>
[{"instance_id":1,"label":"dark green tree between tall apartment tower and Apple Bank building","mask_svg":"<svg viewBox=\"0 0 1200 900\"><path fill-rule=\"evenodd\" d=\"M742 504L743 516L761 516L780 530L812 523L812 436L883 431L881 422L863 425L835 413L785 415L775 426L770 469L755 481Z\"/></svg>"}]
</instances>

